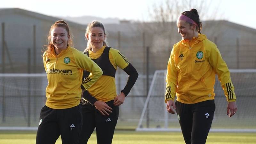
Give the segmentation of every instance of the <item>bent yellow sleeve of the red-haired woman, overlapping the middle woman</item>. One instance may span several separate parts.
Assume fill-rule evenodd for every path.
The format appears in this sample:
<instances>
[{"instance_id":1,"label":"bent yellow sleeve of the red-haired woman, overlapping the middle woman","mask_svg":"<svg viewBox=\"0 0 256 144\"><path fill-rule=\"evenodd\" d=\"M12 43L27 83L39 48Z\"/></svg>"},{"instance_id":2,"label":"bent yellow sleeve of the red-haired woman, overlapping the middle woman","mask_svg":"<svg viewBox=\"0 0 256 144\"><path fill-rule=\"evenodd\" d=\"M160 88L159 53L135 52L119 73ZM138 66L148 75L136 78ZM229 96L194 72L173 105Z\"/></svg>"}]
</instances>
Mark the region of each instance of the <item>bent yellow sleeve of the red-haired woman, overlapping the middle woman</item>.
<instances>
[{"instance_id":1,"label":"bent yellow sleeve of the red-haired woman, overlapping the middle woman","mask_svg":"<svg viewBox=\"0 0 256 144\"><path fill-rule=\"evenodd\" d=\"M85 90L92 86L103 74L101 68L83 52L77 52L75 55L75 61L79 68L90 71L90 75L86 78L86 82L82 85Z\"/></svg>"}]
</instances>

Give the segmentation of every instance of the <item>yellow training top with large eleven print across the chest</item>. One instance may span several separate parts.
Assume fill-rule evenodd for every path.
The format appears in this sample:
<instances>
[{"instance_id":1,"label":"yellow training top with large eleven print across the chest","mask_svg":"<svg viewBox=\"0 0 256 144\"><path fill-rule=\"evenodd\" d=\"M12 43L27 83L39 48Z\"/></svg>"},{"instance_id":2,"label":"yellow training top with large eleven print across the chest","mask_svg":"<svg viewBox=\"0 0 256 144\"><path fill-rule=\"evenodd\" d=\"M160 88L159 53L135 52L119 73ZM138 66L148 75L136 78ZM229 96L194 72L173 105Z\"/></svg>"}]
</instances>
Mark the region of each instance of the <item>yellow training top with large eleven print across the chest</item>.
<instances>
[{"instance_id":1,"label":"yellow training top with large eleven print across the chest","mask_svg":"<svg viewBox=\"0 0 256 144\"><path fill-rule=\"evenodd\" d=\"M46 52L43 55L48 79L45 105L54 109L72 108L79 105L83 69L91 72L87 83L83 84L87 89L100 78L101 68L86 54L72 47L62 50L58 55L55 53L48 57L45 55Z\"/></svg>"}]
</instances>

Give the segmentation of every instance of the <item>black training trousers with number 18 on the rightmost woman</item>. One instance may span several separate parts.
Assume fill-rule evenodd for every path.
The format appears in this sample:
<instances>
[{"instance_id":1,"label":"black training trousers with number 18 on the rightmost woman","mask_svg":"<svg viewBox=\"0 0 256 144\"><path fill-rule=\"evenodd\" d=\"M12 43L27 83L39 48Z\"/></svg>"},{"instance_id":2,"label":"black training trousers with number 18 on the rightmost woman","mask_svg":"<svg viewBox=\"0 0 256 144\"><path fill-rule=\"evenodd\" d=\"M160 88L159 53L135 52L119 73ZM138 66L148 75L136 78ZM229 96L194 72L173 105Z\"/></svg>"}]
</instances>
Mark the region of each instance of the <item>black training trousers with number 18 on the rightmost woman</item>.
<instances>
[{"instance_id":1,"label":"black training trousers with number 18 on the rightmost woman","mask_svg":"<svg viewBox=\"0 0 256 144\"><path fill-rule=\"evenodd\" d=\"M176 101L175 105L186 144L205 144L215 111L214 100L195 104Z\"/></svg>"}]
</instances>

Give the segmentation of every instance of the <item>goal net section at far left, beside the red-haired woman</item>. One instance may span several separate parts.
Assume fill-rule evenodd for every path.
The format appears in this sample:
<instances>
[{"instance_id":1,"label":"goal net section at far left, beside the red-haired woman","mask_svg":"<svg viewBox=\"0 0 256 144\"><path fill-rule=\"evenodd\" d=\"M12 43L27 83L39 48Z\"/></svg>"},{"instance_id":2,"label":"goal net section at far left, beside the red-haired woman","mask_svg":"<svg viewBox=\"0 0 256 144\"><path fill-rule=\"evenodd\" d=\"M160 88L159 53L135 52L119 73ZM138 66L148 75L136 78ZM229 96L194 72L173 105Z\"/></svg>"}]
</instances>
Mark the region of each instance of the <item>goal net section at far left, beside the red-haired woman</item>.
<instances>
[{"instance_id":1,"label":"goal net section at far left, beside the red-haired woman","mask_svg":"<svg viewBox=\"0 0 256 144\"><path fill-rule=\"evenodd\" d=\"M46 74L0 74L0 129L36 130L47 84Z\"/></svg>"}]
</instances>

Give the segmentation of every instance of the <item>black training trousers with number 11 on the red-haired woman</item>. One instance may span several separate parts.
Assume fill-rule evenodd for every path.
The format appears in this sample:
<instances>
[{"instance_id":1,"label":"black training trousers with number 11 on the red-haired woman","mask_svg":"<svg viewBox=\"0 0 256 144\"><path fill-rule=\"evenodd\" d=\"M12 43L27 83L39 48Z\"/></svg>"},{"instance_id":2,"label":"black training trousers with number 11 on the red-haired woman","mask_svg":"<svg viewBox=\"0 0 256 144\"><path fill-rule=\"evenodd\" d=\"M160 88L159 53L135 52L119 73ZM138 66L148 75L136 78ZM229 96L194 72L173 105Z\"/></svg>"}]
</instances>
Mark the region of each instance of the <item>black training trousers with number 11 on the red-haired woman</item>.
<instances>
[{"instance_id":1,"label":"black training trousers with number 11 on the red-haired woman","mask_svg":"<svg viewBox=\"0 0 256 144\"><path fill-rule=\"evenodd\" d=\"M81 105L66 109L44 106L40 113L36 144L54 144L59 136L62 144L78 144L81 129Z\"/></svg>"}]
</instances>

